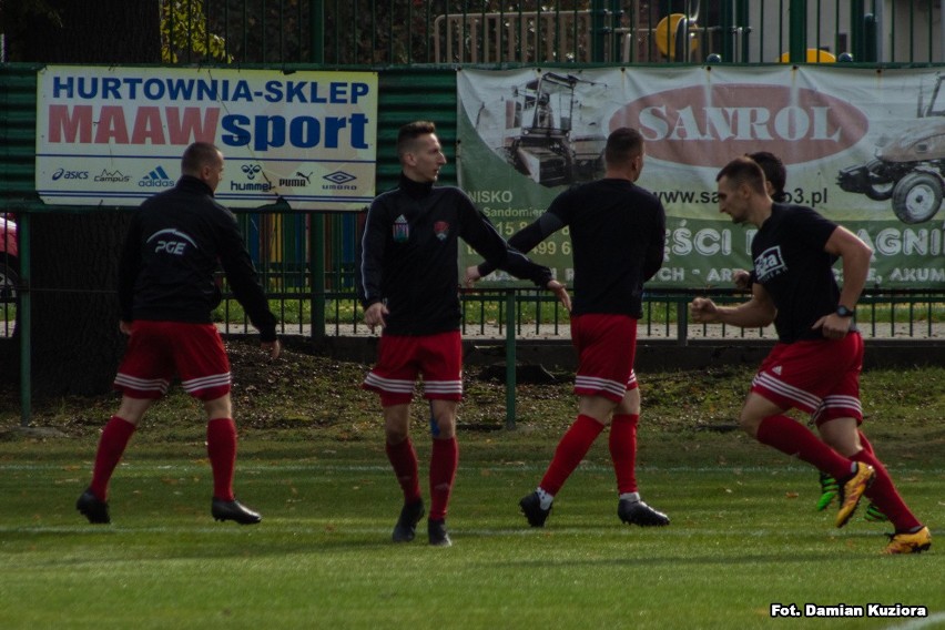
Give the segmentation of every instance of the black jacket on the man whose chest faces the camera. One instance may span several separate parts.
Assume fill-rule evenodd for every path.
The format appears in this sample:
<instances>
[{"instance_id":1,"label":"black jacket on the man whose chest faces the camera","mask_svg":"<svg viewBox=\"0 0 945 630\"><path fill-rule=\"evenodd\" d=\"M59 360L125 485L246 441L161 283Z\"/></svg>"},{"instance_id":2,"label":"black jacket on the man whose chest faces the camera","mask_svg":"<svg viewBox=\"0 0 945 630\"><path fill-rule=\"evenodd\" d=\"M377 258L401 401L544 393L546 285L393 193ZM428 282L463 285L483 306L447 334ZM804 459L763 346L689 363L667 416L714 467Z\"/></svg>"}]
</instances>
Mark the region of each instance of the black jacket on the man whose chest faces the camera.
<instances>
[{"instance_id":1,"label":"black jacket on the man whose chest faces the camera","mask_svg":"<svg viewBox=\"0 0 945 630\"><path fill-rule=\"evenodd\" d=\"M551 271L508 246L457 187L434 187L403 174L374 200L362 242L362 304L385 302L386 333L433 335L459 329L459 238L482 257L538 286Z\"/></svg>"}]
</instances>

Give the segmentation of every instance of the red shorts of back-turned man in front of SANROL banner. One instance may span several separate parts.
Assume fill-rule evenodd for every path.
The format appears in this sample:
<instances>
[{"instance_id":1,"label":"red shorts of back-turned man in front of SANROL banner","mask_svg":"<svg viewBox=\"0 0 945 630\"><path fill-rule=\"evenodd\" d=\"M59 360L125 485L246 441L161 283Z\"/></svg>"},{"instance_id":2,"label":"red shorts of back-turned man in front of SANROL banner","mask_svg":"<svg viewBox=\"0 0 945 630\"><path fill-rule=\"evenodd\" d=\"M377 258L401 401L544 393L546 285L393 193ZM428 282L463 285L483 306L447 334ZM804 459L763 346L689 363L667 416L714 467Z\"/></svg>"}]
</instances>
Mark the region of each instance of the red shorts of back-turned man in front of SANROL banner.
<instances>
[{"instance_id":1,"label":"red shorts of back-turned man in front of SANROL banner","mask_svg":"<svg viewBox=\"0 0 945 630\"><path fill-rule=\"evenodd\" d=\"M575 394L620 403L628 389L637 387L637 319L627 315L572 316L571 343L578 350Z\"/></svg>"}]
</instances>

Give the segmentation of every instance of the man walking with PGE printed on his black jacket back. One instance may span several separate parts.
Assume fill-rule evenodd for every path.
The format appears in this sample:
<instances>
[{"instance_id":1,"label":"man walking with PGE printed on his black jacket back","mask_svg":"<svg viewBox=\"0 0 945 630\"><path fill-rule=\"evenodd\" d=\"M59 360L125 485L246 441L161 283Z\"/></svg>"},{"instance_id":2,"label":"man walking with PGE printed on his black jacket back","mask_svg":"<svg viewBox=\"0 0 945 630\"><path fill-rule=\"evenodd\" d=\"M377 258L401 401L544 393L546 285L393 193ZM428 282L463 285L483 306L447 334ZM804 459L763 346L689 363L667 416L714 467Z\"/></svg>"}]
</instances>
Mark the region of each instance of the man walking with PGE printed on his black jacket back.
<instances>
[{"instance_id":1,"label":"man walking with PGE printed on his black jacket back","mask_svg":"<svg viewBox=\"0 0 945 630\"><path fill-rule=\"evenodd\" d=\"M236 425L230 398L230 362L211 312L220 303L214 274L223 266L236 299L276 358L276 318L228 210L213 193L223 177L223 154L195 142L184 152L176 186L141 204L125 237L119 270L119 327L129 335L115 376L123 393L99 441L92 482L75 505L89 522L111 522L109 480L148 408L171 378L203 402L213 470L211 514L216 520L257 524L262 517L233 495Z\"/></svg>"}]
</instances>

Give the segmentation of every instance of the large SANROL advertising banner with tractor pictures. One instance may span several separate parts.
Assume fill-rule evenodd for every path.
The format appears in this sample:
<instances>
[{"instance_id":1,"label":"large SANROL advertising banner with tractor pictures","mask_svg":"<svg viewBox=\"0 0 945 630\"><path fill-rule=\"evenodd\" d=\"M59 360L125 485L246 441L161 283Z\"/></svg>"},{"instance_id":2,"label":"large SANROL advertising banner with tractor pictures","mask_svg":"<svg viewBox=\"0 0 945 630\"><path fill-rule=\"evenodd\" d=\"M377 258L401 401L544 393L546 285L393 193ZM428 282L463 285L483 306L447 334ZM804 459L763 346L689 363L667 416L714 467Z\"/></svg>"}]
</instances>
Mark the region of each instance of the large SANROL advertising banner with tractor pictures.
<instances>
[{"instance_id":1,"label":"large SANROL advertising banner with tractor pictures","mask_svg":"<svg viewBox=\"0 0 945 630\"><path fill-rule=\"evenodd\" d=\"M667 210L665 261L649 286L730 288L751 266L754 227L719 213L715 175L770 151L790 203L873 247L868 287L942 288L942 87L934 69L841 65L460 70L459 180L508 237L567 186L602 176L607 135L636 128L647 141L637 183ZM567 230L529 255L571 280ZM478 261L467 247L464 265Z\"/></svg>"}]
</instances>

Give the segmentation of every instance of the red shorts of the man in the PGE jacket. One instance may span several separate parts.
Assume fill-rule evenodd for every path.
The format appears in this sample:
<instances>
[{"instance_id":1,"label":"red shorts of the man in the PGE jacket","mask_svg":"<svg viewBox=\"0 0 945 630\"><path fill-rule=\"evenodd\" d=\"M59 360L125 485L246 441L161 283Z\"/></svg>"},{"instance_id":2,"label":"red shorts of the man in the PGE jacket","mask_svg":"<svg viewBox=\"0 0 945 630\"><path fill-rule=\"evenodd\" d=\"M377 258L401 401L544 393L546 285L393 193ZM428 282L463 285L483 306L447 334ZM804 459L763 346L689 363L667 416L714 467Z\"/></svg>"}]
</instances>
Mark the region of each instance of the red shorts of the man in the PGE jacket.
<instances>
[{"instance_id":1,"label":"red shorts of the man in the PGE jacket","mask_svg":"<svg viewBox=\"0 0 945 630\"><path fill-rule=\"evenodd\" d=\"M160 398L176 374L191 396L213 400L230 393L230 360L213 324L138 321L114 388L131 398Z\"/></svg>"}]
</instances>

